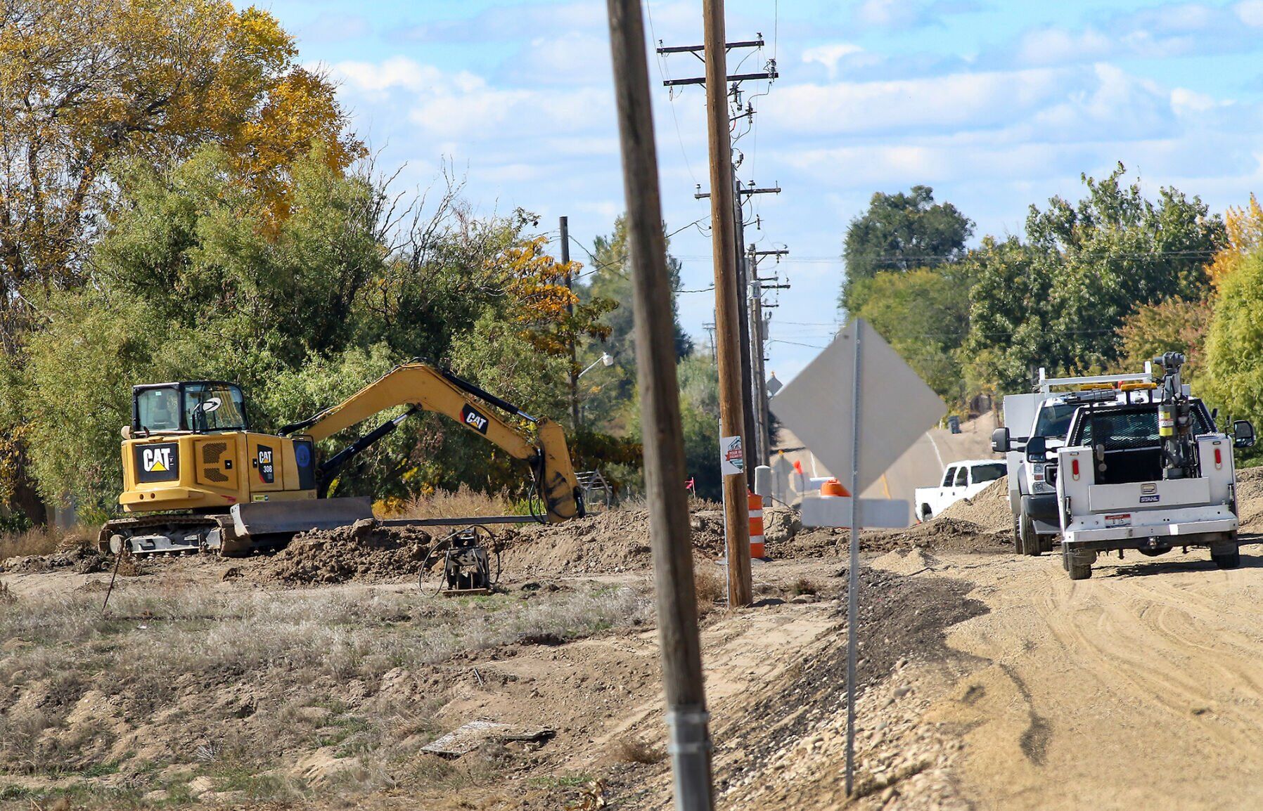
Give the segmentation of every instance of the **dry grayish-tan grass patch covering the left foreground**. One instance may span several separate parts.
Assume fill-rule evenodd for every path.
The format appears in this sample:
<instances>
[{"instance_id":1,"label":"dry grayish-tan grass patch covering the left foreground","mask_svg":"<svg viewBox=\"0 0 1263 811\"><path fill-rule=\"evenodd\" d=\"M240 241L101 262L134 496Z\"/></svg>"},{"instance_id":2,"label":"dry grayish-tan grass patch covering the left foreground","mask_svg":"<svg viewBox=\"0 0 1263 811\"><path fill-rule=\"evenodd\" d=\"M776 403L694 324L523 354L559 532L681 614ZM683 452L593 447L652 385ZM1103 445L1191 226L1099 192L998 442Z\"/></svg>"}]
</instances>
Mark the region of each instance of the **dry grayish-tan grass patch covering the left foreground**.
<instances>
[{"instance_id":1,"label":"dry grayish-tan grass patch covering the left foreground","mask_svg":"<svg viewBox=\"0 0 1263 811\"><path fill-rule=\"evenodd\" d=\"M528 600L427 600L388 589L154 589L129 581L111 598L110 616L101 616L100 600L100 592L42 593L0 610L0 641L20 641L0 657L0 684L13 687L0 694L0 773L91 776L115 768L139 774L138 792L187 792L187 779L168 786L158 774L163 763L143 754L111 762L109 719L99 719L100 726L68 723L81 699L101 691L120 716L162 719L145 728L141 744L184 752L178 762L191 774L251 800L477 782L480 769L501 766L469 758L429 774L429 759L418 757L441 732L441 689L418 697L407 690L355 694L347 685L383 685L392 671L432 679L467 651L576 639L642 623L650 612L635 592L601 584ZM14 703L29 692L47 703L20 710ZM191 738L207 743L186 752L181 742ZM288 773L304 753L325 747L347 758L340 761L345 772L317 782ZM104 793L88 805L117 807L115 800L128 805Z\"/></svg>"}]
</instances>

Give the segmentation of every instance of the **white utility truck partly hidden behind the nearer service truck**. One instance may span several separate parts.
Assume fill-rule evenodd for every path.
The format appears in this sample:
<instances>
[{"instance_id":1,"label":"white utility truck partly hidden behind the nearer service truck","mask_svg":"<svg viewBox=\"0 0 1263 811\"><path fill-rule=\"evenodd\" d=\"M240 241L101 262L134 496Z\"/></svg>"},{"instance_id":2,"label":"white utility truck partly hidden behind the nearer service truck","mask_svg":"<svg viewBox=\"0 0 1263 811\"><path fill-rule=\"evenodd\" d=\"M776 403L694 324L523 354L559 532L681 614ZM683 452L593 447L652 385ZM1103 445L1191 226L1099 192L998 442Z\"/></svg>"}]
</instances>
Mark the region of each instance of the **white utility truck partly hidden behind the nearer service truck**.
<instances>
[{"instance_id":1,"label":"white utility truck partly hidden behind the nearer service truck","mask_svg":"<svg viewBox=\"0 0 1263 811\"><path fill-rule=\"evenodd\" d=\"M1005 428L991 431L991 450L1005 458L1013 547L1018 554L1050 552L1061 532L1055 481L1048 477L1042 453L1027 458L1027 443L1039 436L1048 450L1056 450L1065 444L1070 417L1081 402L1098 396L1094 392L1104 391L1105 396L1115 397L1118 388L1148 386L1152 381L1148 363L1140 373L1089 377L1048 377L1041 368L1033 392L1004 397Z\"/></svg>"}]
</instances>

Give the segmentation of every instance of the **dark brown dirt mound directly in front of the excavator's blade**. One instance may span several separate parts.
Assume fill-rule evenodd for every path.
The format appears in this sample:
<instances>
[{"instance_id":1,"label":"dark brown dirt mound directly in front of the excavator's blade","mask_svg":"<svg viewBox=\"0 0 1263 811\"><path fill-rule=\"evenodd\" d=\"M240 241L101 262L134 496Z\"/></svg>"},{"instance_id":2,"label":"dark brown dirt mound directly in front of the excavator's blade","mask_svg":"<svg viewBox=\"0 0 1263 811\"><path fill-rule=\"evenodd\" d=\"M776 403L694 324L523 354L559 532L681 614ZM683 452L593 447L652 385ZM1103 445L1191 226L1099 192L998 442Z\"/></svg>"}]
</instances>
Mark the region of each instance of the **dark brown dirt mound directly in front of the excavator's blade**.
<instances>
[{"instance_id":1,"label":"dark brown dirt mound directly in front of the excavator's blade","mask_svg":"<svg viewBox=\"0 0 1263 811\"><path fill-rule=\"evenodd\" d=\"M414 578L432 536L417 527L383 527L359 521L335 530L302 532L254 578L289 585L351 580L375 583Z\"/></svg>"}]
</instances>

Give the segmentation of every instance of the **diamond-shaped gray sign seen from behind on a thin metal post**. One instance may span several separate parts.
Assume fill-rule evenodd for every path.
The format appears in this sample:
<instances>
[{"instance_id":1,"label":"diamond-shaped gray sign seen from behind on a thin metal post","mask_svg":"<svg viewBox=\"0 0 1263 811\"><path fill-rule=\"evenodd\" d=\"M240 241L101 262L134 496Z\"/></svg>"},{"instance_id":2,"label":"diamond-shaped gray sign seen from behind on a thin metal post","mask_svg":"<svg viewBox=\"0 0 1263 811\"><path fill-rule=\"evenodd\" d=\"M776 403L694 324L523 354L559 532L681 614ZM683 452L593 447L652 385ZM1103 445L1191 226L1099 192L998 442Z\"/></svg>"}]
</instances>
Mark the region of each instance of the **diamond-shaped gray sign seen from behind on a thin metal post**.
<instances>
[{"instance_id":1,"label":"diamond-shaped gray sign seen from behind on a thin metal post","mask_svg":"<svg viewBox=\"0 0 1263 811\"><path fill-rule=\"evenodd\" d=\"M772 400L777 417L842 482L850 479L855 333L860 333L859 492L885 473L947 406L864 319L853 319Z\"/></svg>"}]
</instances>

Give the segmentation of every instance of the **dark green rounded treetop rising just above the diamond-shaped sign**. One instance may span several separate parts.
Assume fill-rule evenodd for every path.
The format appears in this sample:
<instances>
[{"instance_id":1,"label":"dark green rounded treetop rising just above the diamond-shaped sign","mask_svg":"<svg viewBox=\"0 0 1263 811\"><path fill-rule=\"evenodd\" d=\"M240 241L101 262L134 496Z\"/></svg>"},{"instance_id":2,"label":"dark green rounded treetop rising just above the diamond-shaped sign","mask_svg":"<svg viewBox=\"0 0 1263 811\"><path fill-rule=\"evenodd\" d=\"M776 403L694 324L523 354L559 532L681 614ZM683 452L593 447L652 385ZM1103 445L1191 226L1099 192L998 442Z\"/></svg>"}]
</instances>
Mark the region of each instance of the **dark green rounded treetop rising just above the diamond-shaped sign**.
<instances>
[{"instance_id":1,"label":"dark green rounded treetop rising just above the diamond-shaped sign","mask_svg":"<svg viewBox=\"0 0 1263 811\"><path fill-rule=\"evenodd\" d=\"M973 233L974 221L951 203L935 203L928 185L914 185L907 194L874 193L868 211L846 227L846 279L839 306L859 312L859 283L878 272L937 267L959 260Z\"/></svg>"}]
</instances>

